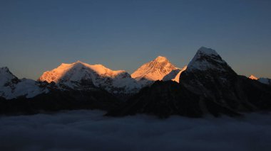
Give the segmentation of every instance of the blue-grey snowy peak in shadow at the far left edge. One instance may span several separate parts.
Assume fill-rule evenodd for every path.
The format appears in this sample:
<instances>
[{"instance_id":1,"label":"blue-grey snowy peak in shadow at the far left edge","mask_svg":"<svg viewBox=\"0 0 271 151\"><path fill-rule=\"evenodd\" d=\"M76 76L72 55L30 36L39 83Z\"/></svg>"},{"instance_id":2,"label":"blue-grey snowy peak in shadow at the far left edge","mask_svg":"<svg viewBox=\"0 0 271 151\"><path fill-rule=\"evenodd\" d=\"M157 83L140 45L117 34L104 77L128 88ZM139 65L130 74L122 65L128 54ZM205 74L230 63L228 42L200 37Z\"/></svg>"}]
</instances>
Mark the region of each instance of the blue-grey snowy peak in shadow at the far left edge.
<instances>
[{"instance_id":1,"label":"blue-grey snowy peak in shadow at the far left edge","mask_svg":"<svg viewBox=\"0 0 271 151\"><path fill-rule=\"evenodd\" d=\"M31 98L48 92L48 89L39 87L31 79L18 79L7 67L0 68L0 96L5 99L15 99L20 96Z\"/></svg>"}]
</instances>

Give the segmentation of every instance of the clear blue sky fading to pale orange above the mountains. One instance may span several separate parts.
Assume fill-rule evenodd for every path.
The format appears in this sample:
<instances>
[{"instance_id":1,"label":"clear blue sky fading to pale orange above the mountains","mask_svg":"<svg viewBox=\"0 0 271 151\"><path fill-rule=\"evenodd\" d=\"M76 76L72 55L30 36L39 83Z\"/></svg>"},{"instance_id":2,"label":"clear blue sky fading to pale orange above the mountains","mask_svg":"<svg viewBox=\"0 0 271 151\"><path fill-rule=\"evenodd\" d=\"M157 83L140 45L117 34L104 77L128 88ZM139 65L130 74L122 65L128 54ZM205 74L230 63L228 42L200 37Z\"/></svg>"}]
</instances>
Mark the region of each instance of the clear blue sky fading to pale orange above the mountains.
<instances>
[{"instance_id":1,"label":"clear blue sky fading to pale orange above the mountains","mask_svg":"<svg viewBox=\"0 0 271 151\"><path fill-rule=\"evenodd\" d=\"M81 60L133 72L212 47L238 74L271 77L271 1L0 1L0 66L37 79Z\"/></svg>"}]
</instances>

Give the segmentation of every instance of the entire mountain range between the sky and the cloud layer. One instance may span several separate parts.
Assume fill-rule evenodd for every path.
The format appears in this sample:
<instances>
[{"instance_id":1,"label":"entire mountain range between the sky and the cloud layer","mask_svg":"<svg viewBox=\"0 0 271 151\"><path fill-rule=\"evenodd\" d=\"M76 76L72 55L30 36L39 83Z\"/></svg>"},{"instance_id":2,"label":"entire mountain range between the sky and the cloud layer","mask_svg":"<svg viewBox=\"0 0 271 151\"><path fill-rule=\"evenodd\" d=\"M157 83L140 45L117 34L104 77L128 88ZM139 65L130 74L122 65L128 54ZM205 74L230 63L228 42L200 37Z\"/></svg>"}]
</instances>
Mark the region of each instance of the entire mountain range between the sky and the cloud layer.
<instances>
[{"instance_id":1,"label":"entire mountain range between the sky and the cloud layer","mask_svg":"<svg viewBox=\"0 0 271 151\"><path fill-rule=\"evenodd\" d=\"M133 74L84 62L61 64L37 81L18 79L0 68L0 113L103 109L108 116L147 113L202 117L270 111L271 80L238 75L215 50L200 47L188 66L166 57Z\"/></svg>"}]
</instances>

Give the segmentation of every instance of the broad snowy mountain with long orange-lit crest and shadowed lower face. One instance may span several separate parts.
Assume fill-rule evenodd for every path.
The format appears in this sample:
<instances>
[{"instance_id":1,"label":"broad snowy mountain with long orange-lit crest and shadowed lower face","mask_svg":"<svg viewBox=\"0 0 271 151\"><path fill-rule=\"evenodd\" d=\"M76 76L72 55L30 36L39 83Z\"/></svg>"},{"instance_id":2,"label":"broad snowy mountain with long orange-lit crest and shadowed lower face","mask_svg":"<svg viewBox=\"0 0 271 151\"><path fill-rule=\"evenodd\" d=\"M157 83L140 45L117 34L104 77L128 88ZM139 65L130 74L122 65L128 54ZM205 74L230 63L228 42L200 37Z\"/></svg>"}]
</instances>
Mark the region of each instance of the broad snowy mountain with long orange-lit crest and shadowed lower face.
<instances>
[{"instance_id":1,"label":"broad snowy mountain with long orange-lit crest and shadowed lower face","mask_svg":"<svg viewBox=\"0 0 271 151\"><path fill-rule=\"evenodd\" d=\"M101 88L111 94L135 94L140 89L140 84L124 70L113 71L103 65L88 65L80 61L44 72L39 81L55 82L60 89Z\"/></svg>"}]
</instances>

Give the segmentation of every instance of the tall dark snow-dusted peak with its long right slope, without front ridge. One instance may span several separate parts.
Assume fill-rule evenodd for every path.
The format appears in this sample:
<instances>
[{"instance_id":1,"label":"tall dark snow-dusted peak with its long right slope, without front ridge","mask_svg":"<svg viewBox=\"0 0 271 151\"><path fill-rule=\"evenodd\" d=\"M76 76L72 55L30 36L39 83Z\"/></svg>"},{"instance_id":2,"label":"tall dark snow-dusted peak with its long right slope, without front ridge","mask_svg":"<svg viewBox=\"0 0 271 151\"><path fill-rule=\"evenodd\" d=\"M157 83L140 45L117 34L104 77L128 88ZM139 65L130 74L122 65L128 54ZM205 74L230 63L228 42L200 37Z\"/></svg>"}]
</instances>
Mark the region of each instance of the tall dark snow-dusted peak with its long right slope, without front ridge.
<instances>
[{"instance_id":1,"label":"tall dark snow-dusted peak with its long right slope, without front ridge","mask_svg":"<svg viewBox=\"0 0 271 151\"><path fill-rule=\"evenodd\" d=\"M202 97L233 111L270 108L271 89L260 82L237 75L215 50L200 48L180 84ZM258 102L262 101L262 106Z\"/></svg>"}]
</instances>

